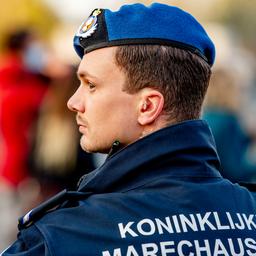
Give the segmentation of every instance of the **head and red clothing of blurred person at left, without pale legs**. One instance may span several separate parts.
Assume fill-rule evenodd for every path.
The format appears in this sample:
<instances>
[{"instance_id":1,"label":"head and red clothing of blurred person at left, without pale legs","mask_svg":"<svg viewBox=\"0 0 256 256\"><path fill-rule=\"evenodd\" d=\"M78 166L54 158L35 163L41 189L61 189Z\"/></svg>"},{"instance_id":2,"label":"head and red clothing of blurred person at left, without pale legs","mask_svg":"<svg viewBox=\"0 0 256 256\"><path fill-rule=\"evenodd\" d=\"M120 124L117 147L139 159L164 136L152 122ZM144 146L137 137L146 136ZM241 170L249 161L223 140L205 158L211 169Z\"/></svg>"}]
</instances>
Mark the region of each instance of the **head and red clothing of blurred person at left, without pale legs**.
<instances>
[{"instance_id":1,"label":"head and red clothing of blurred person at left, without pale legs","mask_svg":"<svg viewBox=\"0 0 256 256\"><path fill-rule=\"evenodd\" d=\"M47 82L39 75L43 54L34 43L31 32L11 33L6 37L5 46L6 54L0 66L3 149L0 175L9 185L16 187L28 176L30 132L47 90Z\"/></svg>"}]
</instances>

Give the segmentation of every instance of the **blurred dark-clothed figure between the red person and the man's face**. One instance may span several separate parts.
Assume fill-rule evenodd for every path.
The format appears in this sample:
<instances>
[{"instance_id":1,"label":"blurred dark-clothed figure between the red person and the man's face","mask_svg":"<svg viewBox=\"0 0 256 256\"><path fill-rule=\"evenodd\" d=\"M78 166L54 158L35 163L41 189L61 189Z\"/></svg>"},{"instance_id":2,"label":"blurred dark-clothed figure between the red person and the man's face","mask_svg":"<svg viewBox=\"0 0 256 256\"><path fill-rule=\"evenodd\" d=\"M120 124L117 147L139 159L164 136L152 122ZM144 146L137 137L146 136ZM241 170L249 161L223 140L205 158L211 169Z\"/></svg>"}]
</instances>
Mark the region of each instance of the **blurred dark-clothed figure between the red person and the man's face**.
<instances>
[{"instance_id":1,"label":"blurred dark-clothed figure between the red person and the man's face","mask_svg":"<svg viewBox=\"0 0 256 256\"><path fill-rule=\"evenodd\" d=\"M75 71L71 67L51 82L39 114L30 164L42 200L64 188L75 189L79 178L95 168L92 156L80 148L74 114L66 107L79 86Z\"/></svg>"}]
</instances>

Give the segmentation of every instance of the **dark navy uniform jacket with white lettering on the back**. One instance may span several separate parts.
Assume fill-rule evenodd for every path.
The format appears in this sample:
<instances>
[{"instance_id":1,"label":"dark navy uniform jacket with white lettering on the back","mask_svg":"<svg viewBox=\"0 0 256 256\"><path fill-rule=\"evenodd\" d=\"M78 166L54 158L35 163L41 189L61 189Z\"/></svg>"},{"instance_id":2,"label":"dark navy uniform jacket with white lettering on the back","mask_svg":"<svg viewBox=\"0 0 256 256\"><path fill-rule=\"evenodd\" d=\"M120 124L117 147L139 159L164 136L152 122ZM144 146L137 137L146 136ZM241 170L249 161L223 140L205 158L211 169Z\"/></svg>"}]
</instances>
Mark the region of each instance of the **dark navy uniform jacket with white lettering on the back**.
<instances>
[{"instance_id":1,"label":"dark navy uniform jacket with white lettering on the back","mask_svg":"<svg viewBox=\"0 0 256 256\"><path fill-rule=\"evenodd\" d=\"M164 128L32 210L3 255L256 255L253 194L219 169L204 121Z\"/></svg>"}]
</instances>

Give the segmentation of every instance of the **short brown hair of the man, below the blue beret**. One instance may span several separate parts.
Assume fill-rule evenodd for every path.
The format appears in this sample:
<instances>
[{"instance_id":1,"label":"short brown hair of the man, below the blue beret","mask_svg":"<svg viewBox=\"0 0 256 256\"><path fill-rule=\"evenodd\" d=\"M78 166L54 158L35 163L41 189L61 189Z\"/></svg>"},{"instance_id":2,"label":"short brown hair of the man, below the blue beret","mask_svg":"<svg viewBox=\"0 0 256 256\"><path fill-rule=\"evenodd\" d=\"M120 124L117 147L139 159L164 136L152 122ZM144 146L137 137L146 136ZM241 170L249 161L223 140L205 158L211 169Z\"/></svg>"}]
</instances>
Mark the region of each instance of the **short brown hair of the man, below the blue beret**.
<instances>
[{"instance_id":1,"label":"short brown hair of the man, below the blue beret","mask_svg":"<svg viewBox=\"0 0 256 256\"><path fill-rule=\"evenodd\" d=\"M159 90L170 120L197 119L209 84L211 69L189 51L161 45L125 45L116 50L116 64L127 76L125 90Z\"/></svg>"}]
</instances>

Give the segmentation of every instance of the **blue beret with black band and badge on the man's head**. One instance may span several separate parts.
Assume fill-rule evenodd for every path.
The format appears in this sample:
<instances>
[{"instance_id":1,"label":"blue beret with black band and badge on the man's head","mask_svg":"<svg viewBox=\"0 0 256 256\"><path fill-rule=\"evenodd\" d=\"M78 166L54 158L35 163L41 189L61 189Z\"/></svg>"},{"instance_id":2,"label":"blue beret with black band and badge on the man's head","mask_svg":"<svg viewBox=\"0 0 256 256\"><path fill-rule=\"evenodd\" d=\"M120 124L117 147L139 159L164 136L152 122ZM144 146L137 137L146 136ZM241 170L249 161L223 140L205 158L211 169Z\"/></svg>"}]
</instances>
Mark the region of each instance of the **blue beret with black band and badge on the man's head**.
<instances>
[{"instance_id":1,"label":"blue beret with black band and badge on the man's head","mask_svg":"<svg viewBox=\"0 0 256 256\"><path fill-rule=\"evenodd\" d=\"M191 51L211 66L215 48L189 13L160 3L124 5L118 11L95 9L79 27L74 47L80 58L90 51L118 45L157 44Z\"/></svg>"}]
</instances>

